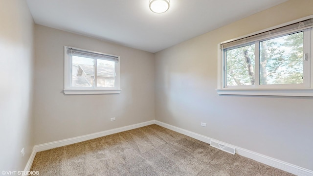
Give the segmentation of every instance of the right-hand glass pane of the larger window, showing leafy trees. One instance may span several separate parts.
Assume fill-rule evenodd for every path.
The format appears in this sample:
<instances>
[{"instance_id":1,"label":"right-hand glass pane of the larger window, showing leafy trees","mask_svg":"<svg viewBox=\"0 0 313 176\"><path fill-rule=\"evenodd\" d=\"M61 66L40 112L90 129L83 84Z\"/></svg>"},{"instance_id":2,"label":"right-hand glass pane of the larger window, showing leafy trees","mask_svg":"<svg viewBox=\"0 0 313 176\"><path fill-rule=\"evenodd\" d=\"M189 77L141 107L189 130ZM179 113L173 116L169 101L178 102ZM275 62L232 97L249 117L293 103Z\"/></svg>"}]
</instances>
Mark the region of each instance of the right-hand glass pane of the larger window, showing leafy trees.
<instances>
[{"instance_id":1,"label":"right-hand glass pane of the larger window, showing leafy trees","mask_svg":"<svg viewBox=\"0 0 313 176\"><path fill-rule=\"evenodd\" d=\"M260 84L303 83L303 32L260 42Z\"/></svg>"}]
</instances>

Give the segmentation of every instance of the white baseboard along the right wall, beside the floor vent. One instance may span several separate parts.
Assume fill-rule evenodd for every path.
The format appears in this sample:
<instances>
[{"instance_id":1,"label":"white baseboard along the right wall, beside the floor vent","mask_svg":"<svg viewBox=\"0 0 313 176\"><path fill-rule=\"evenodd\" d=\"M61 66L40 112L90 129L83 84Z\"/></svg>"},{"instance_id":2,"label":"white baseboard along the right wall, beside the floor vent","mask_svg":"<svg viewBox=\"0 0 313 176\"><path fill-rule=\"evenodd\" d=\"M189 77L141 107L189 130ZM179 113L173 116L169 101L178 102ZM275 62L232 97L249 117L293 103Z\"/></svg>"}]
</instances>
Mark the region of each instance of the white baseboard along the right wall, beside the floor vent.
<instances>
[{"instance_id":1,"label":"white baseboard along the right wall, beside the floor vent","mask_svg":"<svg viewBox=\"0 0 313 176\"><path fill-rule=\"evenodd\" d=\"M255 153L255 152L252 152L252 151L249 151L249 150L246 150L246 149L243 149L243 148L231 145L231 144L227 144L225 142L222 142L222 141L219 141L219 140L216 140L213 138L209 138L207 136L204 136L204 135L201 135L201 134L198 134L195 132L190 132L190 131L187 131L187 130L184 130L184 129L175 127L173 125L169 125L169 124L157 121L157 120L155 123L156 123L156 125L159 125L161 127L167 128L169 130L173 130L175 132L179 132L181 134L185 134L189 137L198 139L198 140L200 140L202 142L206 142L208 144L211 142L211 140L214 140L220 144L236 148L236 154L239 154L239 155L245 156L247 158L253 159L255 161L266 164L268 166L272 166L274 168L281 169L281 170L289 172L291 174L294 174L297 176L313 176L313 171L311 171L309 169L305 169L305 168L302 168L302 167L299 167L299 166L296 166L296 165L293 165L293 164L290 164L290 163L287 163L287 162L284 162L284 161L281 161L281 160L278 160L275 158L271 158L271 157L268 157L268 156L263 155L263 154L258 154L258 153Z\"/></svg>"}]
</instances>

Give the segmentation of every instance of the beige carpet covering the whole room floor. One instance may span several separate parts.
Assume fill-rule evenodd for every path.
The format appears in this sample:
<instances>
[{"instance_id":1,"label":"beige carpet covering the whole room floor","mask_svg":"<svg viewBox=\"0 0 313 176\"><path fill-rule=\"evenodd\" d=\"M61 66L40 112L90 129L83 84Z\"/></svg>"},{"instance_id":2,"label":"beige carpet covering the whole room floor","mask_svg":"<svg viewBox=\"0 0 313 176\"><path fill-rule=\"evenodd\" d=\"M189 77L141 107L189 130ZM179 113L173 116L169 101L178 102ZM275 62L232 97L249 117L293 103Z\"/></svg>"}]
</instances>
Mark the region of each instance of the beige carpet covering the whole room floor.
<instances>
[{"instance_id":1,"label":"beige carpet covering the whole room floor","mask_svg":"<svg viewBox=\"0 0 313 176\"><path fill-rule=\"evenodd\" d=\"M36 154L41 176L292 176L150 125Z\"/></svg>"}]
</instances>

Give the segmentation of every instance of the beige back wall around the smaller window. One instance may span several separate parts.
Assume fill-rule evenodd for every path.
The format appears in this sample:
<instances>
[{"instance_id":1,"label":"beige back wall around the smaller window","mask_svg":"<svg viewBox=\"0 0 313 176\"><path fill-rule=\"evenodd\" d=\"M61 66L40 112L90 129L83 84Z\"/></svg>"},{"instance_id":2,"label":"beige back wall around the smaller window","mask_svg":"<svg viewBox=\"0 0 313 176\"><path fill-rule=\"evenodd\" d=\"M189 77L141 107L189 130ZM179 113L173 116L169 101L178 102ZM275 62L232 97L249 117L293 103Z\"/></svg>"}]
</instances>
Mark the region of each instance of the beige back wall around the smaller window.
<instances>
[{"instance_id":1,"label":"beige back wall around the smaller window","mask_svg":"<svg viewBox=\"0 0 313 176\"><path fill-rule=\"evenodd\" d=\"M65 95L64 45L120 56L122 92ZM154 55L35 25L34 90L35 144L154 120Z\"/></svg>"}]
</instances>

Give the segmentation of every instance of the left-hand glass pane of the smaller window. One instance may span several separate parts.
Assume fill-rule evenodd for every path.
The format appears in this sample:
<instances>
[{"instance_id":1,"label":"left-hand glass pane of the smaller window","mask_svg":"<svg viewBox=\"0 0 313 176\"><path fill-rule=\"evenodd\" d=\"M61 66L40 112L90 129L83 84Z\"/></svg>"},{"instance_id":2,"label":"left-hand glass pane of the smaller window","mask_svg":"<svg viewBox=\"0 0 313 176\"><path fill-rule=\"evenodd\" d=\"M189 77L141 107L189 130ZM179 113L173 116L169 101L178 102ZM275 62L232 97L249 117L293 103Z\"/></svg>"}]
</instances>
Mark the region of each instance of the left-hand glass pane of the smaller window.
<instances>
[{"instance_id":1,"label":"left-hand glass pane of the smaller window","mask_svg":"<svg viewBox=\"0 0 313 176\"><path fill-rule=\"evenodd\" d=\"M72 56L72 87L93 87L93 59Z\"/></svg>"}]
</instances>

